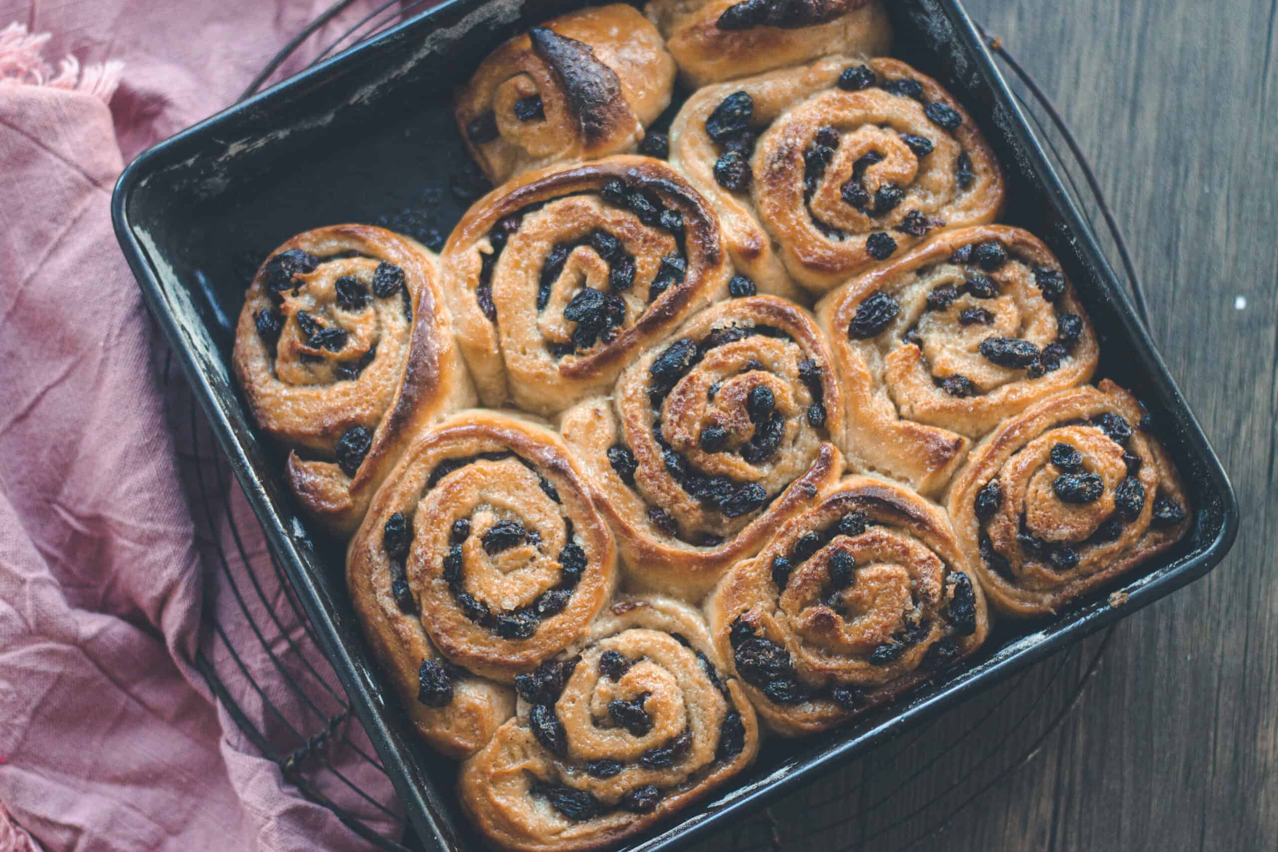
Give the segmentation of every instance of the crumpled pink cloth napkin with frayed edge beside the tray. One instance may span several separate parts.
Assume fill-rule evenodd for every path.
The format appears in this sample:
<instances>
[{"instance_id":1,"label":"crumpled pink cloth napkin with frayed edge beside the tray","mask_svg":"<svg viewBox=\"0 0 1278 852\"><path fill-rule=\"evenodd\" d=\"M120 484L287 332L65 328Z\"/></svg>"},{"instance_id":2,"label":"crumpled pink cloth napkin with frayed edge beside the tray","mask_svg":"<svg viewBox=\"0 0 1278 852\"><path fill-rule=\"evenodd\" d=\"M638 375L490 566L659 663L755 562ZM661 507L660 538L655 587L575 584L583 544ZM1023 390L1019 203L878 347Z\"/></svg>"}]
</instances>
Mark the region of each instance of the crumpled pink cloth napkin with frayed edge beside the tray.
<instances>
[{"instance_id":1,"label":"crumpled pink cloth napkin with frayed edge beside the tray","mask_svg":"<svg viewBox=\"0 0 1278 852\"><path fill-rule=\"evenodd\" d=\"M166 419L174 384L109 216L123 162L234 101L331 1L0 0L0 29L20 24L0 34L0 847L24 848L24 829L46 849L372 848L245 740L194 668L203 649L272 750L298 742L267 699L303 736L340 706L302 706L261 649L243 660L259 696L211 634L216 620L238 649L258 648L227 581L250 589L248 574L225 513L201 519L204 533L193 519ZM49 68L41 50L79 63ZM230 491L248 561L268 566ZM202 535L234 554L225 570L202 558ZM316 673L290 649L305 639L273 571L257 576L254 621L282 666L344 699L312 645ZM337 733L326 756L351 786L321 773L321 792L395 837L399 805L359 754L373 755L362 728Z\"/></svg>"}]
</instances>

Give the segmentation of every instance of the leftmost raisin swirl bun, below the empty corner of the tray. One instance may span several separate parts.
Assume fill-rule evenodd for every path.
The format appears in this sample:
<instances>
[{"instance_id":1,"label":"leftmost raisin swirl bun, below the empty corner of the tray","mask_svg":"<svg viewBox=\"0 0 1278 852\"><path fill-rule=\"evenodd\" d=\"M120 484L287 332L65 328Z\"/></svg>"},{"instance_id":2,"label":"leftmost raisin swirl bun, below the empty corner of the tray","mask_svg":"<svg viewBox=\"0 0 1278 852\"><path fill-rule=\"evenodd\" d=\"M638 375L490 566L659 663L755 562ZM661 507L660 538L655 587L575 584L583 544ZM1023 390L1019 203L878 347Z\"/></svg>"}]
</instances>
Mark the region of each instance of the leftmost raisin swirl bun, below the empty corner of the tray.
<instances>
[{"instance_id":1,"label":"leftmost raisin swirl bun, below the empty corner of the tray","mask_svg":"<svg viewBox=\"0 0 1278 852\"><path fill-rule=\"evenodd\" d=\"M423 424L473 405L435 255L368 225L276 249L248 289L233 367L288 478L322 526L349 535Z\"/></svg>"}]
</instances>

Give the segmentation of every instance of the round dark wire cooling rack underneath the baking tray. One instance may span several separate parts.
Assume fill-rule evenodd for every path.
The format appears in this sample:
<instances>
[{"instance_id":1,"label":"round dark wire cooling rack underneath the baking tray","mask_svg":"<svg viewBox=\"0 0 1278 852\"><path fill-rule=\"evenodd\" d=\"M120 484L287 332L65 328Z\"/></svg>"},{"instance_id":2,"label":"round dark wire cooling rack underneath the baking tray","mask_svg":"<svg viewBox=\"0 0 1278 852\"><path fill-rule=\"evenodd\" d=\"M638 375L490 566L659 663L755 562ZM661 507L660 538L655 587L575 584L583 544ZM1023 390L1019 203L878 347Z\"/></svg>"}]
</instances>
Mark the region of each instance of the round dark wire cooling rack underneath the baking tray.
<instances>
[{"instance_id":1,"label":"round dark wire cooling rack underneath the baking tray","mask_svg":"<svg viewBox=\"0 0 1278 852\"><path fill-rule=\"evenodd\" d=\"M437 0L389 0L341 29L336 38L321 38L326 26L355 1L337 0L316 17L267 63L240 100L277 75L281 65L300 49L317 49L311 64L318 63L424 13ZM1109 238L1108 248L1118 255L1136 310L1148 323L1145 294L1127 241L1077 141L1051 98L1002 40L984 29L980 33L1012 73L1013 92L1070 184L1075 201L1089 201L1079 207L1094 227L1099 215L1104 225L1102 232ZM360 740L362 746L353 742L350 731L358 722L351 717L346 696L336 686L279 561L273 554L252 554L245 547L231 502L238 485L193 395L167 356L164 379L170 391L170 424L178 437L179 461L190 491L203 570L211 576L222 576L231 599L224 602L220 613L206 602L206 623L212 635L197 654L197 667L244 737L262 756L279 765L298 791L380 848L420 848L399 814L369 797L327 759L328 745L341 741L357 761L368 764L362 769L385 772L367 741ZM230 548L225 543L227 539ZM233 565L243 565L247 571L238 577ZM271 598L263 582L271 589L279 585L280 598ZM859 780L842 783L841 775L822 784L822 792L809 788L794 793L774 809L764 809L703 847L780 852L817 843L831 849L863 848L869 843L882 849L910 849L924 844L943 833L965 807L1033 760L1039 746L1079 704L1109 648L1113 630L1109 627L1099 639L1075 645L872 752L847 770L849 775L859 773ZM254 677L247 662L261 660L263 655L268 664L265 669L258 668L268 673L270 681ZM1029 700L1025 697L1028 687L1036 691ZM261 727L242 700L244 705L261 709ZM947 729L937 743L939 726ZM958 743L974 740L985 743L979 756L960 755ZM281 742L285 745L279 745ZM935 778L944 779L939 788ZM873 792L870 782L874 782ZM391 833L396 839L386 839L357 816L357 812L371 811L382 818L383 825L403 826ZM778 819L782 811L785 819ZM795 815L801 819L791 819Z\"/></svg>"}]
</instances>

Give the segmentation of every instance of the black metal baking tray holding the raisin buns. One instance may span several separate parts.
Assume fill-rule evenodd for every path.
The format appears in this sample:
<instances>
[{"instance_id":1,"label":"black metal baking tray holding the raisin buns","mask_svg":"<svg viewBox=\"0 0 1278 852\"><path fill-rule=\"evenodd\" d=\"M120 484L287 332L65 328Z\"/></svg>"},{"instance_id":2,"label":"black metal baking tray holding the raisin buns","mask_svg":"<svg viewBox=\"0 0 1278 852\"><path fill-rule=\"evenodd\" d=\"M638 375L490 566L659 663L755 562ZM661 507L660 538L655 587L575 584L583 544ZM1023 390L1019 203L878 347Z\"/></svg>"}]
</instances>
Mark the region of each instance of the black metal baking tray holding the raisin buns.
<instances>
[{"instance_id":1,"label":"black metal baking tray holding the raisin buns","mask_svg":"<svg viewBox=\"0 0 1278 852\"><path fill-rule=\"evenodd\" d=\"M468 195L451 93L489 50L581 0L450 0L139 156L112 198L120 245L271 545L427 847L473 848L455 766L412 733L382 688L346 600L343 548L313 535L282 484L280 453L249 423L231 381L234 322L253 271L298 231L385 225L438 244ZM958 0L892 0L893 55L935 77L975 116L1010 188L1003 221L1057 254L1102 342L1098 377L1132 388L1196 508L1178 548L1048 621L1002 621L960 672L824 736L771 738L750 774L633 842L672 849L810 782L962 697L1007 678L1206 574L1237 531L1233 491L1094 235L1049 165ZM464 181L463 181L464 183ZM1108 594L1126 593L1111 605Z\"/></svg>"}]
</instances>

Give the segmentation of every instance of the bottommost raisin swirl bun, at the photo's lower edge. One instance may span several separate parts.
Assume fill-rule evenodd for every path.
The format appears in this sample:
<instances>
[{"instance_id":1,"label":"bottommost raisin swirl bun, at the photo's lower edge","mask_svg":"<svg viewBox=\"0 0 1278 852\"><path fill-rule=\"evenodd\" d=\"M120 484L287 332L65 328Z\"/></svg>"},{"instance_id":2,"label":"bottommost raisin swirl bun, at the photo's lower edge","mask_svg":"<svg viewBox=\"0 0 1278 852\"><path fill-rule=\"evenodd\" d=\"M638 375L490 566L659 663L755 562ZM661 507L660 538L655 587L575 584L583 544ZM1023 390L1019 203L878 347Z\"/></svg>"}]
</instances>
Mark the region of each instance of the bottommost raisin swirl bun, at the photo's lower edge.
<instances>
[{"instance_id":1,"label":"bottommost raisin swirl bun, at the photo's lower edge","mask_svg":"<svg viewBox=\"0 0 1278 852\"><path fill-rule=\"evenodd\" d=\"M519 715L461 766L460 800L491 843L613 844L750 765L758 723L695 609L622 598L580 653L520 678Z\"/></svg>"}]
</instances>

